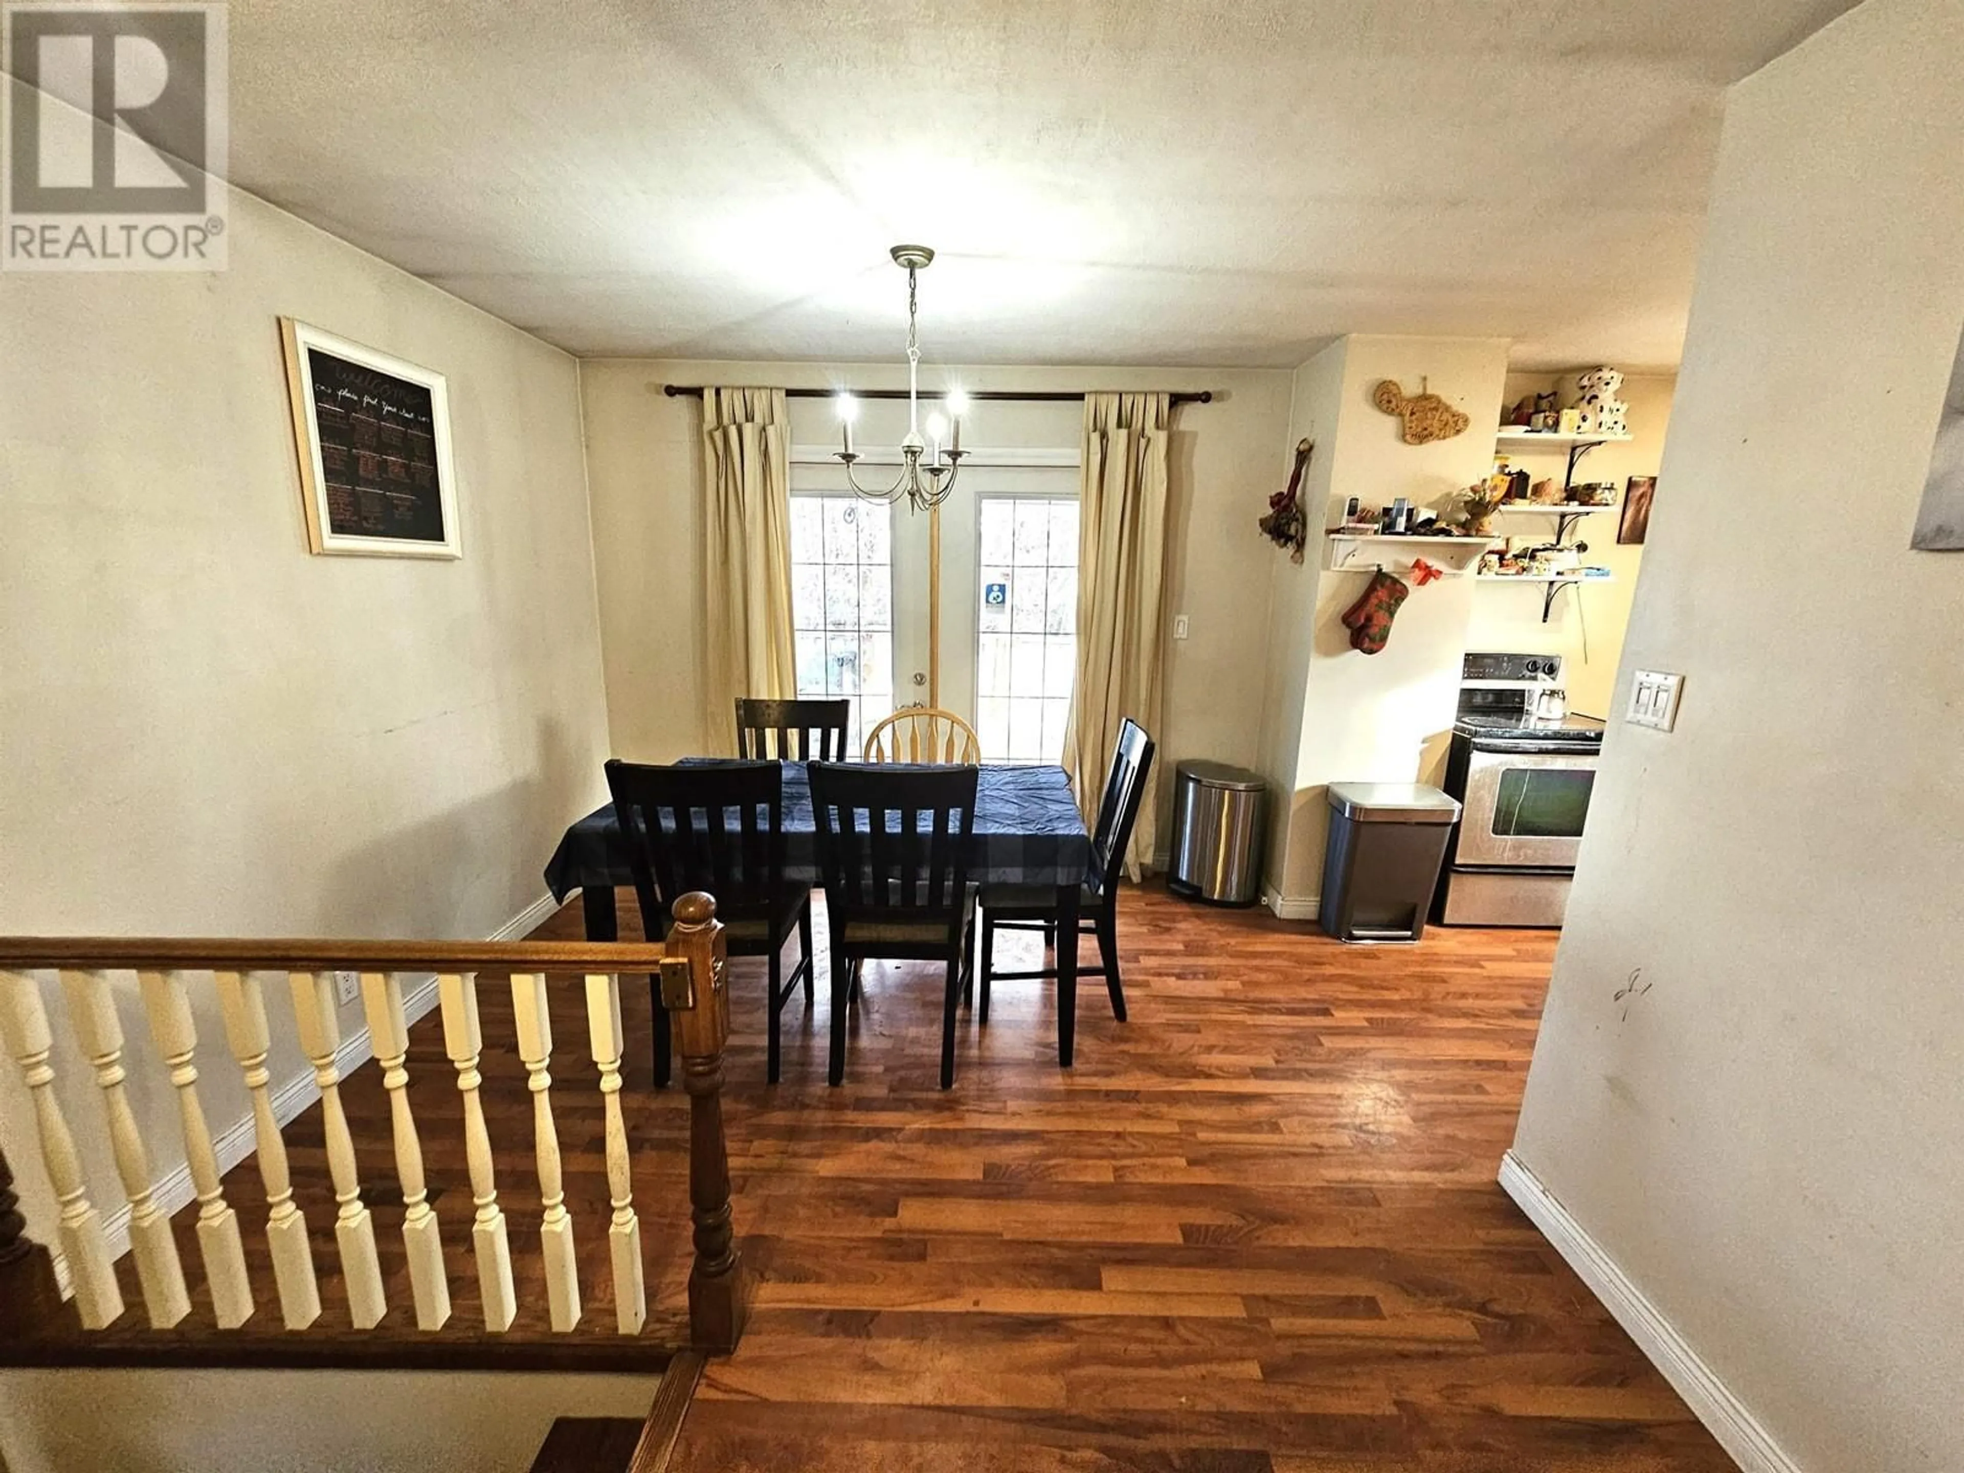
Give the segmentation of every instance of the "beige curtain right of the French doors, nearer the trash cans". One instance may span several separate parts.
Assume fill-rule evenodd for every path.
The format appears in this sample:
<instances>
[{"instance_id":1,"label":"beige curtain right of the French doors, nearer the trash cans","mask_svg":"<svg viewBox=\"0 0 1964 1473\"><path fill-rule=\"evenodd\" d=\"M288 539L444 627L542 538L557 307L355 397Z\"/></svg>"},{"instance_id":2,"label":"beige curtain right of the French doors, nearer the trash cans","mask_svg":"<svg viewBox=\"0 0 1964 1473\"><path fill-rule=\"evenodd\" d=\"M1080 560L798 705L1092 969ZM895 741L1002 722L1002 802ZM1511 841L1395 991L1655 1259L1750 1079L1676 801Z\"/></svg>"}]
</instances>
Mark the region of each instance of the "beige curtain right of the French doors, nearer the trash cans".
<instances>
[{"instance_id":1,"label":"beige curtain right of the French doors, nearer the trash cans","mask_svg":"<svg viewBox=\"0 0 1964 1473\"><path fill-rule=\"evenodd\" d=\"M1078 676L1064 770L1086 823L1098 819L1118 729L1131 717L1157 740L1167 656L1167 395L1084 395L1078 505ZM1147 784L1125 870L1153 858L1157 788Z\"/></svg>"}]
</instances>

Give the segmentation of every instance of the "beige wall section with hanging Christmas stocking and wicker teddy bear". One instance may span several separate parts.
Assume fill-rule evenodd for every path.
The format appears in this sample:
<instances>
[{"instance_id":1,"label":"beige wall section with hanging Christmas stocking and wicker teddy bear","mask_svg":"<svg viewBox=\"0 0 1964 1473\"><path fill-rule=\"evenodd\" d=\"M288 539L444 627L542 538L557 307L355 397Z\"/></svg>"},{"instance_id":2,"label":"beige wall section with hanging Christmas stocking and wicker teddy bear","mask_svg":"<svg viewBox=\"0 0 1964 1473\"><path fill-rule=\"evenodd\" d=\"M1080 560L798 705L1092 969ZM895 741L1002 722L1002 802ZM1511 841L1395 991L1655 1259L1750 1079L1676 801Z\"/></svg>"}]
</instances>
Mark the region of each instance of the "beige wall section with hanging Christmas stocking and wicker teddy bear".
<instances>
[{"instance_id":1,"label":"beige wall section with hanging Christmas stocking and wicker teddy bear","mask_svg":"<svg viewBox=\"0 0 1964 1473\"><path fill-rule=\"evenodd\" d=\"M1495 420L1504 377L1500 338L1367 334L1343 338L1296 371L1298 418L1290 444L1314 438L1322 475L1314 485L1320 499L1308 503L1306 566L1288 570L1292 577L1271 619L1279 676L1269 687L1271 711L1263 715L1273 738L1265 750L1269 778L1288 793L1290 813L1282 848L1271 845L1269 903L1279 913L1310 913L1322 888L1328 784L1440 776L1475 597L1471 577L1414 585L1385 650L1359 654L1341 615L1363 593L1369 573L1322 570L1324 530L1339 520L1349 497L1385 507L1402 495L1418 507L1442 509L1453 491L1483 477L1493 464L1493 438L1483 426ZM1398 420L1371 403L1381 379L1398 379L1406 393L1418 393L1424 381L1465 410L1473 426L1449 440L1404 444ZM1284 634L1284 625L1294 632ZM1290 715L1290 705L1300 717ZM1294 752L1286 748L1290 721L1298 733Z\"/></svg>"}]
</instances>

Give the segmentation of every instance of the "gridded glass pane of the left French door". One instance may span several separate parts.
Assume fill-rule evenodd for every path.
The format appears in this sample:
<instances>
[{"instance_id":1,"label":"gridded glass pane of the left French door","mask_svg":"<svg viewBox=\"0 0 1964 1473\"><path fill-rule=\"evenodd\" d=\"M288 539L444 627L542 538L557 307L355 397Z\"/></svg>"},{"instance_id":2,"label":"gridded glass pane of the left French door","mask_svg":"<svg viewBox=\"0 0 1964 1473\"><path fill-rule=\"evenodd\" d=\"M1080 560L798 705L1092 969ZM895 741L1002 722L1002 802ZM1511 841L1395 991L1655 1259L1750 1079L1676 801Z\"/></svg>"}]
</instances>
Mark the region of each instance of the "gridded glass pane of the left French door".
<instances>
[{"instance_id":1,"label":"gridded glass pane of the left French door","mask_svg":"<svg viewBox=\"0 0 1964 1473\"><path fill-rule=\"evenodd\" d=\"M894 711L894 520L856 497L791 497L797 693L846 697L846 750Z\"/></svg>"}]
</instances>

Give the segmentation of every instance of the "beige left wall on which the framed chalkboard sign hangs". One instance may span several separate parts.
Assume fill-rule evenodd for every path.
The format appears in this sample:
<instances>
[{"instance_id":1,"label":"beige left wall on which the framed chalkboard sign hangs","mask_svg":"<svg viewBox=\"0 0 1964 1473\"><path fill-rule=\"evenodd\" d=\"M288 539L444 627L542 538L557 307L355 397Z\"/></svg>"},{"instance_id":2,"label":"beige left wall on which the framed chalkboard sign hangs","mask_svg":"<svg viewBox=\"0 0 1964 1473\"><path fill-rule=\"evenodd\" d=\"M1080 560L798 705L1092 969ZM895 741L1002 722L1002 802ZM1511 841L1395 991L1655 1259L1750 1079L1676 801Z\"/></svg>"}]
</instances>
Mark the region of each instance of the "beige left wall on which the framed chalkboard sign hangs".
<instances>
[{"instance_id":1,"label":"beige left wall on which the framed chalkboard sign hangs","mask_svg":"<svg viewBox=\"0 0 1964 1473\"><path fill-rule=\"evenodd\" d=\"M575 363L255 198L232 232L210 277L0 275L0 933L491 935L605 791ZM281 314L448 375L460 562L308 556ZM124 982L161 1178L177 1118ZM198 1015L224 1129L246 1096ZM47 1239L12 1066L0 1135Z\"/></svg>"}]
</instances>

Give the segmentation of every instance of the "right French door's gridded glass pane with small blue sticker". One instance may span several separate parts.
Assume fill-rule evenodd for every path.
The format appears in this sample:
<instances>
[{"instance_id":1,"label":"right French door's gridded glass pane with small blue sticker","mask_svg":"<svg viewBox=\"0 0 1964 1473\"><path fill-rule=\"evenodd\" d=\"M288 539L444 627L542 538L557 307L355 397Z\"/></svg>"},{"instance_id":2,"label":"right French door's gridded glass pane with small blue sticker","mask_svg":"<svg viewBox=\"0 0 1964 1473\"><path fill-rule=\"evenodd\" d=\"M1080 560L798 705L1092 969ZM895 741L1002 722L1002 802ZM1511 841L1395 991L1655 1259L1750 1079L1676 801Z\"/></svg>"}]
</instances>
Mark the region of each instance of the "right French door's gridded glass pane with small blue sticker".
<instances>
[{"instance_id":1,"label":"right French door's gridded glass pane with small blue sticker","mask_svg":"<svg viewBox=\"0 0 1964 1473\"><path fill-rule=\"evenodd\" d=\"M982 497L976 735L990 760L1057 762L1076 674L1078 503Z\"/></svg>"}]
</instances>

